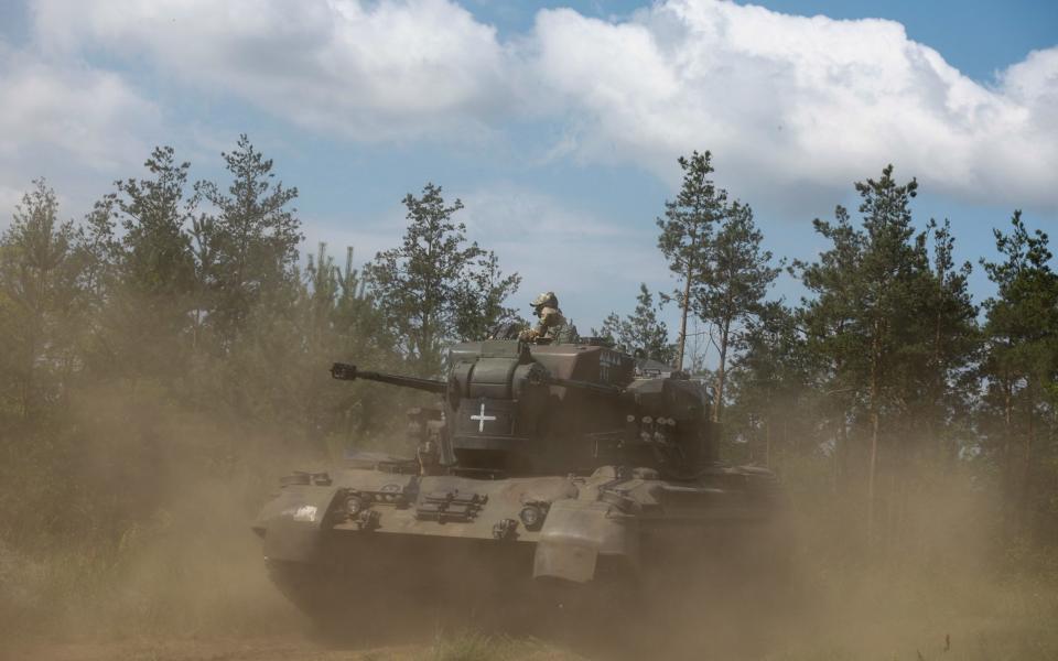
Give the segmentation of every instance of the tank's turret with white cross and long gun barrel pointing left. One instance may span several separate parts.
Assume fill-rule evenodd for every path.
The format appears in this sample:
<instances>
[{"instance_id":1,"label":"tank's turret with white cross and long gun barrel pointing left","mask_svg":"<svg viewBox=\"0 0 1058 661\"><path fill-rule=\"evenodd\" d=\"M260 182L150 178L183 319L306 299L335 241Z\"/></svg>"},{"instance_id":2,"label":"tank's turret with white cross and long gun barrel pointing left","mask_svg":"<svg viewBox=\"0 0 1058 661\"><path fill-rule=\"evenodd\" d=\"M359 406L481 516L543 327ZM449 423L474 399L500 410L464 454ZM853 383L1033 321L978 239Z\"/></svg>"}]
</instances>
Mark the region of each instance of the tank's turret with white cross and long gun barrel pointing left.
<instances>
[{"instance_id":1,"label":"tank's turret with white cross and long gun barrel pointing left","mask_svg":"<svg viewBox=\"0 0 1058 661\"><path fill-rule=\"evenodd\" d=\"M691 473L715 458L704 387L681 372L643 375L601 343L455 345L445 380L361 371L371 380L443 394L441 464L454 473L591 473L604 465Z\"/></svg>"}]
</instances>

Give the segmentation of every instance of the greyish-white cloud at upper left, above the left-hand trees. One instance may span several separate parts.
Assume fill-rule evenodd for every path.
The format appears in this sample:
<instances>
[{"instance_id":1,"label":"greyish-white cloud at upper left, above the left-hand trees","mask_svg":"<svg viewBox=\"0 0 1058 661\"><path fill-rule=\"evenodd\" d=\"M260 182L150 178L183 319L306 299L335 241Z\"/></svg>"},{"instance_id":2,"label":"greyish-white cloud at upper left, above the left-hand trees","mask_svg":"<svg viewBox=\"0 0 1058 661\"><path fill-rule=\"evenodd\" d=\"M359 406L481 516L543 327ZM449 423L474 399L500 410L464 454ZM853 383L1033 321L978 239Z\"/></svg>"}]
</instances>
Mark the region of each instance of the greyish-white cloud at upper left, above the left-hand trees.
<instances>
[{"instance_id":1,"label":"greyish-white cloud at upper left, above the left-hand trees","mask_svg":"<svg viewBox=\"0 0 1058 661\"><path fill-rule=\"evenodd\" d=\"M447 0L39 0L35 24L358 140L477 132L506 98L495 29Z\"/></svg>"}]
</instances>

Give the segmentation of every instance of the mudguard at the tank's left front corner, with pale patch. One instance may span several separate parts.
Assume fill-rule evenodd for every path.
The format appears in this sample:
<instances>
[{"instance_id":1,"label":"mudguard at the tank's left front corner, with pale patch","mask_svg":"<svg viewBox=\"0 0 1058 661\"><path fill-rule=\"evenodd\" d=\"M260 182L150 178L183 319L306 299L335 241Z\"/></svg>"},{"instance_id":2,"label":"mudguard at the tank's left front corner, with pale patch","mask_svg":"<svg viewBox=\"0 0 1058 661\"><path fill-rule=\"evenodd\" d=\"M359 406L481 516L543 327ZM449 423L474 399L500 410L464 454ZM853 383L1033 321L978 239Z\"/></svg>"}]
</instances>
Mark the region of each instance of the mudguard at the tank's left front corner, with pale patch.
<instances>
[{"instance_id":1,"label":"mudguard at the tank's left front corner, with pale patch","mask_svg":"<svg viewBox=\"0 0 1058 661\"><path fill-rule=\"evenodd\" d=\"M253 524L264 537L264 556L288 562L315 560L322 527L337 492L333 487L284 487Z\"/></svg>"}]
</instances>

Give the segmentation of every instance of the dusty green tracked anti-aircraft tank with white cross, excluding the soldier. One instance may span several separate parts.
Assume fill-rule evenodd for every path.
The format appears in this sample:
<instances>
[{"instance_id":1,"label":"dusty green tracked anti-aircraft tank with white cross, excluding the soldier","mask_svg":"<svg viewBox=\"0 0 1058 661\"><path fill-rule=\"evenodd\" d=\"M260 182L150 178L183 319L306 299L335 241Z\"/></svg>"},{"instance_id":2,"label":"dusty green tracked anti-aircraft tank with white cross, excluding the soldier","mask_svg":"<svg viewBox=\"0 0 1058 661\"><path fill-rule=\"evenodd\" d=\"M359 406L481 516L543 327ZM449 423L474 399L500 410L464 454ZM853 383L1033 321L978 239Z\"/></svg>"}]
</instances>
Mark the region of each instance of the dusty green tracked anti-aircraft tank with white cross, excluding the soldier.
<instances>
[{"instance_id":1,"label":"dusty green tracked anti-aircraft tank with white cross, excluding the soldier","mask_svg":"<svg viewBox=\"0 0 1058 661\"><path fill-rule=\"evenodd\" d=\"M444 380L333 366L440 402L410 415L415 458L295 473L263 508L273 577L310 613L355 605L348 585L380 578L415 603L639 586L733 531L773 529L773 475L719 463L708 389L685 373L592 340L458 344L447 365Z\"/></svg>"}]
</instances>

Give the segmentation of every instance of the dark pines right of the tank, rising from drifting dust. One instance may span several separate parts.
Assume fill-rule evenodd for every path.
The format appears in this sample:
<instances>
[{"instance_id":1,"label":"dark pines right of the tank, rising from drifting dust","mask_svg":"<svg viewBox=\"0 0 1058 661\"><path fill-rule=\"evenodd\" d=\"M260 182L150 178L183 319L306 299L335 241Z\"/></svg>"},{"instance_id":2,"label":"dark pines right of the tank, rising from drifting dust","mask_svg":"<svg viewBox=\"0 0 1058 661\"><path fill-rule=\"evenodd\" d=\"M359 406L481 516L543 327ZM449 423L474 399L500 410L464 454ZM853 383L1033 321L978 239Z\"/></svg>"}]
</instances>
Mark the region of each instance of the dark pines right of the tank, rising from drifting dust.
<instances>
[{"instance_id":1,"label":"dark pines right of the tank, rising from drifting dust","mask_svg":"<svg viewBox=\"0 0 1058 661\"><path fill-rule=\"evenodd\" d=\"M678 286L674 346L644 288L604 329L683 365L688 317L704 330L690 369L716 394L727 456L794 473L848 507L850 539L914 544L936 512L911 511L953 481L989 495L998 539L1058 541L1058 274L1048 237L1014 212L980 260L994 296L975 303L948 220L915 223L918 183L893 166L855 184L854 215L816 219L814 260L776 261L749 205L711 180L709 152L680 159L683 184L659 218ZM782 269L809 294L769 296ZM660 333L659 333L660 330ZM651 344L655 343L655 344ZM693 351L692 351L693 353Z\"/></svg>"}]
</instances>

